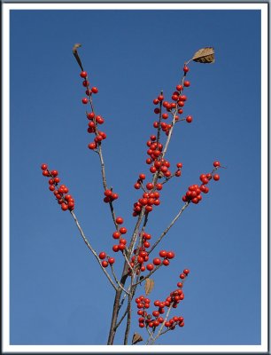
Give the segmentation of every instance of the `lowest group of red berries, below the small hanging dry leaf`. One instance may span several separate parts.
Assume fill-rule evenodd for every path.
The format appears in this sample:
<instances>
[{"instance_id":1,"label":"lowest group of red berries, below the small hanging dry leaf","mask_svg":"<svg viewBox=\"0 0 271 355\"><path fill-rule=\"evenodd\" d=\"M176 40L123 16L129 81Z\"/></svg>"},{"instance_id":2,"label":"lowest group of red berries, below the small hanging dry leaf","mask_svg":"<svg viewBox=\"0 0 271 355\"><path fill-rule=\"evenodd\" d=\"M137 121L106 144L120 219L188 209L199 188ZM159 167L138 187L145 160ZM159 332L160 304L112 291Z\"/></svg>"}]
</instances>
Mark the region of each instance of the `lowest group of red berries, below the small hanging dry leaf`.
<instances>
[{"instance_id":1,"label":"lowest group of red berries, below the small hanging dry leaf","mask_svg":"<svg viewBox=\"0 0 271 355\"><path fill-rule=\"evenodd\" d=\"M180 275L180 278L183 280L190 273L189 269L184 269ZM140 316L138 318L139 327L159 327L159 324L165 321L164 317L161 315L165 313L166 307L177 308L178 304L184 299L184 294L182 291L182 282L177 283L178 289L175 289L166 297L165 301L156 300L153 302L153 305L157 307L153 312L148 312L151 304L151 300L144 296L139 296L136 298L137 314ZM168 329L174 329L176 325L180 327L184 326L183 317L174 316L172 319L166 320L165 326Z\"/></svg>"}]
</instances>

